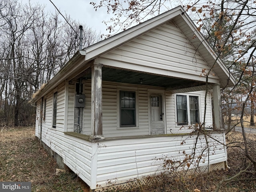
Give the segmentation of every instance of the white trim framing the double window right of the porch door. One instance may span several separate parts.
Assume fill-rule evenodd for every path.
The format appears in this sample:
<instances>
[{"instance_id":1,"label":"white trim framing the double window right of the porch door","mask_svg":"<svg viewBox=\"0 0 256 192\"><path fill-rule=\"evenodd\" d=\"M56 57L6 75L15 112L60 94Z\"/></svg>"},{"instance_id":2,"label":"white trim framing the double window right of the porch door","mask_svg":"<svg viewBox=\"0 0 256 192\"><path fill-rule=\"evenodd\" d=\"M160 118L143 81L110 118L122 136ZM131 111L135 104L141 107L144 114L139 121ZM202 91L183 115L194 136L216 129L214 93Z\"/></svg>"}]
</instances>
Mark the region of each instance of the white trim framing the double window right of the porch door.
<instances>
[{"instance_id":1,"label":"white trim framing the double window right of the porch door","mask_svg":"<svg viewBox=\"0 0 256 192\"><path fill-rule=\"evenodd\" d=\"M178 114L177 114L177 95L186 96L186 102L187 102L187 124L178 124ZM189 126L193 125L190 122L190 106L189 106L189 97L190 96L197 96L198 97L198 122L202 122L201 120L201 98L200 94L186 94L186 93L177 93L174 94L174 111L175 111L175 125L180 126Z\"/></svg>"}]
</instances>

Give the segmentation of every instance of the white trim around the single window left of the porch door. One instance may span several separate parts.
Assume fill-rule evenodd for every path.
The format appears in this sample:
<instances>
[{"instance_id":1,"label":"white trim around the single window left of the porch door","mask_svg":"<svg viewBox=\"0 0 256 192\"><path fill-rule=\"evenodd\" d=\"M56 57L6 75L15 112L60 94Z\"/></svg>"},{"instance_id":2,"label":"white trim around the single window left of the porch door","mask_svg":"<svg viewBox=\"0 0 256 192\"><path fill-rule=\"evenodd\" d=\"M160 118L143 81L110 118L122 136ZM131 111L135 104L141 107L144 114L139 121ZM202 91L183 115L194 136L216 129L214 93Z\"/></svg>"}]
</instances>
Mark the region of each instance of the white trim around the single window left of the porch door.
<instances>
[{"instance_id":1,"label":"white trim around the single window left of the porch door","mask_svg":"<svg viewBox=\"0 0 256 192\"><path fill-rule=\"evenodd\" d=\"M135 93L135 126L121 126L121 106L120 106L120 92L134 92ZM137 88L117 88L117 129L134 129L139 128L139 105L138 105L138 89Z\"/></svg>"}]
</instances>

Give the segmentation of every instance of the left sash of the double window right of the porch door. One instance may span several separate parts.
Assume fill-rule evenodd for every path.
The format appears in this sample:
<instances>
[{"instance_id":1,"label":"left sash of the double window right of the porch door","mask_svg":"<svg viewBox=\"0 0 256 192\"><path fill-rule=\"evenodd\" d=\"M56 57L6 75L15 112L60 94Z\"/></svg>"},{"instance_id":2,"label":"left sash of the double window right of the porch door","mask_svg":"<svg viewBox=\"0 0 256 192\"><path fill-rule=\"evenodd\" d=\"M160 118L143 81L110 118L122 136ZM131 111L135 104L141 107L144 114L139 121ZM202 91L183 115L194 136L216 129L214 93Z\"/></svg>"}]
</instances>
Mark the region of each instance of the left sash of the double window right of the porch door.
<instances>
[{"instance_id":1,"label":"left sash of the double window right of the porch door","mask_svg":"<svg viewBox=\"0 0 256 192\"><path fill-rule=\"evenodd\" d=\"M177 124L187 125L188 124L188 114L187 114L187 97L186 95L176 96L177 104Z\"/></svg>"}]
</instances>

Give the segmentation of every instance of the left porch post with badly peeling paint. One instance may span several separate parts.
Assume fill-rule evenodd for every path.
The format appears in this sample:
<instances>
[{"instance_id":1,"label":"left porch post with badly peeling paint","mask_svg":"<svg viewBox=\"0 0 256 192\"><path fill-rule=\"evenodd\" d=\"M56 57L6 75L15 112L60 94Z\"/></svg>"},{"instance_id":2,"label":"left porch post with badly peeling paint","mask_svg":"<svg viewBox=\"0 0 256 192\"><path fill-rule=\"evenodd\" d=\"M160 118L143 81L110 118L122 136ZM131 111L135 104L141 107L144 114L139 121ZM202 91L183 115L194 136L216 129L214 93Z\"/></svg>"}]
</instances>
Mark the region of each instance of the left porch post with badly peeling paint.
<instances>
[{"instance_id":1,"label":"left porch post with badly peeling paint","mask_svg":"<svg viewBox=\"0 0 256 192\"><path fill-rule=\"evenodd\" d=\"M92 140L104 139L102 136L102 66L92 64Z\"/></svg>"}]
</instances>

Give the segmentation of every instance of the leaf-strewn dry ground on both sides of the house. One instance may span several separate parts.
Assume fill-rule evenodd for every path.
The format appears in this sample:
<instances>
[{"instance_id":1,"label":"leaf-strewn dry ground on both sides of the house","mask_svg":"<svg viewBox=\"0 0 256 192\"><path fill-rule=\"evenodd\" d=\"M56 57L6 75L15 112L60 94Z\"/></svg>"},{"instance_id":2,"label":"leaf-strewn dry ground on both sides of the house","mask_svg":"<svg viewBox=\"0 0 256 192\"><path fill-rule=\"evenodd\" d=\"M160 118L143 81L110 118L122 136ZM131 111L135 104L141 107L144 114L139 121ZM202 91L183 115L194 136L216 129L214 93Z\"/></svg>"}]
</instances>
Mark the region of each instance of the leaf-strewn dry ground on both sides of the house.
<instances>
[{"instance_id":1,"label":"leaf-strewn dry ground on both sides of the house","mask_svg":"<svg viewBox=\"0 0 256 192\"><path fill-rule=\"evenodd\" d=\"M250 153L256 157L255 135L248 135ZM152 186L140 186L130 192L210 192L222 178L230 178L248 165L244 157L242 135L227 136L229 170L184 177L160 176ZM88 186L74 173L56 174L57 165L34 136L34 128L0 128L0 181L32 182L32 192L86 192ZM222 184L220 192L256 192L254 174L244 173ZM127 190L123 190L127 191Z\"/></svg>"}]
</instances>

